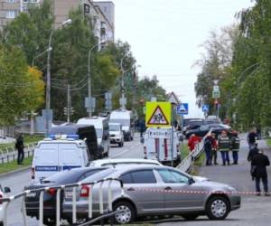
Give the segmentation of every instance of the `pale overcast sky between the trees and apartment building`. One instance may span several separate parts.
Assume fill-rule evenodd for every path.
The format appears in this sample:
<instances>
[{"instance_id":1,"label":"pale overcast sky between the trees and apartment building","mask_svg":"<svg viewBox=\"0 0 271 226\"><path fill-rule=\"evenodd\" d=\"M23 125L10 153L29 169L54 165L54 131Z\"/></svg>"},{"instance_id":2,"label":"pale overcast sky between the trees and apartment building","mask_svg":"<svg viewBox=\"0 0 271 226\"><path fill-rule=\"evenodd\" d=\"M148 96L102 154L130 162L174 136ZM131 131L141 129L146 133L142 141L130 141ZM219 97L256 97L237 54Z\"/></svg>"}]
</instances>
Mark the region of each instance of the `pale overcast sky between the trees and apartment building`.
<instances>
[{"instance_id":1,"label":"pale overcast sky between the trees and apartment building","mask_svg":"<svg viewBox=\"0 0 271 226\"><path fill-rule=\"evenodd\" d=\"M234 15L251 0L112 0L115 38L131 45L139 77L157 76L169 93L189 104L189 117L202 117L194 83L201 44L212 30L236 22ZM212 84L210 84L212 85Z\"/></svg>"}]
</instances>

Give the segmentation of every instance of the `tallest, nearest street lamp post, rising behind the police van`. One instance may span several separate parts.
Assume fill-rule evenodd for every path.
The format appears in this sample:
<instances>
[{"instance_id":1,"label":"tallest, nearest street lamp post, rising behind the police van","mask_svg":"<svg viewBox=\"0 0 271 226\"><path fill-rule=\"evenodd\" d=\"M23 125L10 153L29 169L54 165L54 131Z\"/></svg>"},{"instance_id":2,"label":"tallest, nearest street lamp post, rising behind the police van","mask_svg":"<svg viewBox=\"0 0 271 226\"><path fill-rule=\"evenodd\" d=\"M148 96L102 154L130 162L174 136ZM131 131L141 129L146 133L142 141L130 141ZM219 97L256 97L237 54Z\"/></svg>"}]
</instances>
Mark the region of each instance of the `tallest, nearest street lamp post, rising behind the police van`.
<instances>
[{"instance_id":1,"label":"tallest, nearest street lamp post, rising behind the police van","mask_svg":"<svg viewBox=\"0 0 271 226\"><path fill-rule=\"evenodd\" d=\"M71 24L71 20L68 19L66 21L64 21L61 24L62 26ZM46 73L46 102L45 102L45 108L46 108L46 113L45 113L45 117L46 117L46 136L48 136L49 134L49 129L50 129L50 118L49 118L49 112L50 112L50 108L51 108L51 64L50 64L50 59L51 59L51 37L52 34L57 30L58 28L53 28L49 37L49 43L48 43L48 54L47 54L47 73Z\"/></svg>"}]
</instances>

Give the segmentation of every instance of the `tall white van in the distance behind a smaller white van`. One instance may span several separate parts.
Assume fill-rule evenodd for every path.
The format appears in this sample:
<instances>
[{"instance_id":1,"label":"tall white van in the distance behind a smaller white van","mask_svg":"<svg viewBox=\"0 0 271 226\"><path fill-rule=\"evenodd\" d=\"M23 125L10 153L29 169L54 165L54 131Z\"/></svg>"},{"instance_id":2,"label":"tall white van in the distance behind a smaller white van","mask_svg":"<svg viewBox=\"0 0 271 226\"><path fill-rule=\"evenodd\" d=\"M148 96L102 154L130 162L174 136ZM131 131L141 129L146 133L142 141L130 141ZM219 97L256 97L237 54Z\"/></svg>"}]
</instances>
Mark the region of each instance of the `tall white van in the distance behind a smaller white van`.
<instances>
[{"instance_id":1,"label":"tall white van in the distance behind a smaller white van","mask_svg":"<svg viewBox=\"0 0 271 226\"><path fill-rule=\"evenodd\" d=\"M119 123L124 132L125 140L133 140L134 138L134 117L131 110L118 109L110 114L109 123Z\"/></svg>"}]
</instances>

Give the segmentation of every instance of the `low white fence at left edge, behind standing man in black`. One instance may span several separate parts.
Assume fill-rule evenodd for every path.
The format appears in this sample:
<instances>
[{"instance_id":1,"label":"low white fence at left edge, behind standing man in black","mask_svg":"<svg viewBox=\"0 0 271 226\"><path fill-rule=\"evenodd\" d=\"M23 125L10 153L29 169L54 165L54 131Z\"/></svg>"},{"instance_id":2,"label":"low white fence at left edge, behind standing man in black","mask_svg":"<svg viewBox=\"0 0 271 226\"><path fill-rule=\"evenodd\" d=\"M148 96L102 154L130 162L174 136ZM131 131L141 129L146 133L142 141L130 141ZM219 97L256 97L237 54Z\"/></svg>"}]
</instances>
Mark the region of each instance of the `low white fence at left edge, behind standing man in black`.
<instances>
[{"instance_id":1,"label":"low white fence at left edge, behind standing man in black","mask_svg":"<svg viewBox=\"0 0 271 226\"><path fill-rule=\"evenodd\" d=\"M33 156L34 148L37 143L24 145L24 157ZM5 147L0 149L0 165L4 163L14 162L17 159L18 152L14 147Z\"/></svg>"}]
</instances>

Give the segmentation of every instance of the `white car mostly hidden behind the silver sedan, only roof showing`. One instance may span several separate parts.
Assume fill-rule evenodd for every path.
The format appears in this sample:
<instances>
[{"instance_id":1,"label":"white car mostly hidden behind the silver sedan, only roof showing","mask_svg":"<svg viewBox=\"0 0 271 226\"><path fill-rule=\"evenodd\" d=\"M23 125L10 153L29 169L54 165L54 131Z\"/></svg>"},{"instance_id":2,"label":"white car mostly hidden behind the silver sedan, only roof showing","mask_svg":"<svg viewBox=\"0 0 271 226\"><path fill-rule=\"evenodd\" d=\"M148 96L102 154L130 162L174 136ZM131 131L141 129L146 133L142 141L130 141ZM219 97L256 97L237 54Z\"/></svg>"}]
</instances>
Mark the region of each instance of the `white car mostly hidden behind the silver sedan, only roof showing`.
<instances>
[{"instance_id":1,"label":"white car mostly hidden behind the silver sedan, only roof showing","mask_svg":"<svg viewBox=\"0 0 271 226\"><path fill-rule=\"evenodd\" d=\"M115 165L162 165L156 160L143 158L114 158L98 159L92 161L89 166L115 166Z\"/></svg>"}]
</instances>

